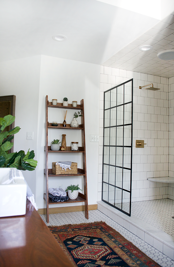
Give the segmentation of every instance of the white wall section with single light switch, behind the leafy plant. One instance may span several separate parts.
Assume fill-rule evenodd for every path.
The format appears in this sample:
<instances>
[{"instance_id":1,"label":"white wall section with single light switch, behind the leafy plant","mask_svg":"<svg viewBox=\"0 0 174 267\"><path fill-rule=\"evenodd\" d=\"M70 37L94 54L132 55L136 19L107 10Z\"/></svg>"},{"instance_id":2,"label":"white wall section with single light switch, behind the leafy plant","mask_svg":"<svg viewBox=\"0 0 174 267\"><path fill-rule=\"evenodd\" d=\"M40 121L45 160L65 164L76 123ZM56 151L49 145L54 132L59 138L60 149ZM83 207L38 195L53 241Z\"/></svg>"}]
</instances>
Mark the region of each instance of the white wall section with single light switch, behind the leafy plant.
<instances>
[{"instance_id":1,"label":"white wall section with single light switch, behind the leafy plant","mask_svg":"<svg viewBox=\"0 0 174 267\"><path fill-rule=\"evenodd\" d=\"M15 127L21 130L14 135L14 152L35 151L37 159L37 118L39 101L41 56L26 57L0 63L0 95L16 95ZM26 140L27 131L34 132L33 140ZM36 170L23 171L35 194Z\"/></svg>"}]
</instances>

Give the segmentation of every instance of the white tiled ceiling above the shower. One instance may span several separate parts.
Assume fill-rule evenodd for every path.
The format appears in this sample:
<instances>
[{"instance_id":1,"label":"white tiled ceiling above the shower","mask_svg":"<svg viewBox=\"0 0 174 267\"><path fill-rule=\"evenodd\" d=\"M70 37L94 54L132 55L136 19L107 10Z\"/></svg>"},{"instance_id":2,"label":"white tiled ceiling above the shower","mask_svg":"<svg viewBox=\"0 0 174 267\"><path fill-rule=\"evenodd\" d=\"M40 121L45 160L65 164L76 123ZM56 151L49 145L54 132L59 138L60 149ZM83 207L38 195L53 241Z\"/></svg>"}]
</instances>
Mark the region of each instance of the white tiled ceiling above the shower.
<instances>
[{"instance_id":1,"label":"white tiled ceiling above the shower","mask_svg":"<svg viewBox=\"0 0 174 267\"><path fill-rule=\"evenodd\" d=\"M153 49L140 51L139 47L145 44L153 46ZM119 50L103 65L169 78L174 76L174 60L160 60L157 57L159 52L168 49L174 50L174 12Z\"/></svg>"}]
</instances>

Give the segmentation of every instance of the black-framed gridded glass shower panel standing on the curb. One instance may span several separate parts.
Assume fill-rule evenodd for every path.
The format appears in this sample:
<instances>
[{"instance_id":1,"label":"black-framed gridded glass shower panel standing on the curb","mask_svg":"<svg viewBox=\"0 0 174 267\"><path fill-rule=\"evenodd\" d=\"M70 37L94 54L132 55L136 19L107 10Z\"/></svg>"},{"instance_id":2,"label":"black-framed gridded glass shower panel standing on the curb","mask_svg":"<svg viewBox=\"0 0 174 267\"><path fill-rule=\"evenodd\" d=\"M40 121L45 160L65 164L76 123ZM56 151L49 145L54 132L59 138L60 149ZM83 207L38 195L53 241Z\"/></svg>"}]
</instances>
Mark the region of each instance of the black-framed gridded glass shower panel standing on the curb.
<instances>
[{"instance_id":1,"label":"black-framed gridded glass shower panel standing on the curb","mask_svg":"<svg viewBox=\"0 0 174 267\"><path fill-rule=\"evenodd\" d=\"M131 216L133 79L104 92L102 201Z\"/></svg>"}]
</instances>

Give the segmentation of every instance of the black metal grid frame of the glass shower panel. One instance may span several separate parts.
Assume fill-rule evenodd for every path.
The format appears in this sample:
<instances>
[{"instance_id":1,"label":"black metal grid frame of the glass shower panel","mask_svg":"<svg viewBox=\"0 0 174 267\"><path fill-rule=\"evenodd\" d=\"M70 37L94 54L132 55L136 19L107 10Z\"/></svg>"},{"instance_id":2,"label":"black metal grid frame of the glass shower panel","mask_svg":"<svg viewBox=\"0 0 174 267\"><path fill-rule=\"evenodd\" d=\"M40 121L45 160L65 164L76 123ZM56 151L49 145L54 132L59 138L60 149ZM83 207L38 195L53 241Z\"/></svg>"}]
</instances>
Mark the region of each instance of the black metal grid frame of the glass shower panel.
<instances>
[{"instance_id":1,"label":"black metal grid frame of the glass shower panel","mask_svg":"<svg viewBox=\"0 0 174 267\"><path fill-rule=\"evenodd\" d=\"M124 90L124 89L125 89L125 84L127 84L127 83L129 83L129 82L131 82L131 84L132 84L132 97L131 97L132 100L131 100L130 102L126 102L126 103L124 103L124 100L125 100L125 98L124 98L124 96L125 96L125 90ZM116 105L116 106L114 106L114 107L111 107L111 102L112 102L112 100L111 100L111 93L112 93L112 90L113 90L113 89L116 89L116 104L117 104L117 89L118 89L118 87L120 87L120 86L123 86L123 104L119 104L119 105ZM110 107L105 109L105 94L108 93L108 92L110 92ZM129 123L129 124L124 124L125 105L126 105L126 104L130 104L130 103L131 103L131 123ZM121 106L123 106L123 124L122 124L122 125L117 125L117 108L118 108L118 107L121 107ZM111 118L110 118L110 116L109 116L109 126L105 127L105 111L106 111L106 110L109 110L110 113L111 113L111 110L112 110L113 108L116 108L116 125L115 125L115 126L111 126ZM128 126L128 125L131 125L131 146L125 146L125 145L124 145L124 128L125 128L126 126ZM111 136L110 136L110 129L113 128L113 127L116 128L116 142L115 142L115 145L110 145L110 137L111 137ZM123 127L123 145L117 145L117 127ZM105 138L106 138L106 137L105 137L105 129L106 129L106 128L109 129L109 145L104 145ZM132 134L132 132L133 132L133 79L130 79L130 80L128 80L128 81L126 81L126 82L124 82L124 83L122 83L122 84L119 84L119 85L117 85L117 86L115 86L115 87L113 87L113 88L111 88L111 89L109 89L109 90L107 90L107 91L104 92L103 168L102 168L102 201L104 201L105 203L109 204L110 206L116 208L117 210L120 210L120 211L123 212L124 214L127 214L128 216L131 216L132 140L133 140L133 134ZM108 136L107 136L107 138L108 138ZM109 164L104 163L104 148L105 148L105 147L109 147L109 155L108 155L108 158L109 158ZM110 164L110 147L115 147L115 154L116 154L116 149L117 149L117 147L122 147L122 148L123 148L123 149L122 149L122 151L123 151L123 153L122 153L123 159L122 159L122 160L124 160L124 147L129 147L129 148L131 148L131 168L124 167L124 163L123 163L123 161L122 161L122 167L116 165L116 155L115 155L115 165ZM108 170L108 183L107 183L106 181L104 181L104 165L108 165L108 168L110 168L110 166L115 167L115 185L110 184L110 181L109 181L109 174L110 174L110 173L109 173L109 170ZM119 187L119 186L116 185L116 168L121 168L121 169L122 169L122 187ZM126 189L123 188L123 174L124 174L124 169L125 169L125 170L126 170L126 169L127 169L127 170L130 170L130 191L129 191L129 190L126 190ZM106 200L103 199L103 186L104 186L104 184L105 184L105 185L108 185L108 201L106 201ZM119 203L119 204L121 204L121 208L118 208L118 207L116 206L116 204L115 204L115 198L114 198L114 204L109 203L109 192L110 192L110 191L109 191L109 185L112 186L112 187L114 187L115 190L116 190L116 188L117 188L118 190L122 190L122 199L121 199L121 203ZM129 212L126 212L125 210L122 209L122 207L123 207L123 191L125 191L125 192L129 192L129 193L130 193L130 202L129 202L129 203L130 203L130 206L129 206ZM115 192L114 192L114 196L115 196ZM118 203L117 203L117 204L118 204Z\"/></svg>"}]
</instances>

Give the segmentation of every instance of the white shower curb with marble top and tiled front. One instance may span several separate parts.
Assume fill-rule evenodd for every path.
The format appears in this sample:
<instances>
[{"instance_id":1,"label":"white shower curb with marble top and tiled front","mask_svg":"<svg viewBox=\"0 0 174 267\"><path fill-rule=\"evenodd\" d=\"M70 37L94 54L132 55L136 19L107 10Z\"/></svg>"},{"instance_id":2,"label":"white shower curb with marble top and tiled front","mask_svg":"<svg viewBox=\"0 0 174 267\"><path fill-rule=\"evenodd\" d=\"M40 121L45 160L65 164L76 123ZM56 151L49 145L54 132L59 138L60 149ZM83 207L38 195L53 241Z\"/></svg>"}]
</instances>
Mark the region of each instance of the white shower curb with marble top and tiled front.
<instances>
[{"instance_id":1,"label":"white shower curb with marble top and tiled front","mask_svg":"<svg viewBox=\"0 0 174 267\"><path fill-rule=\"evenodd\" d=\"M103 201L97 201L97 204L99 211L174 260L174 237L133 215L129 217Z\"/></svg>"}]
</instances>

